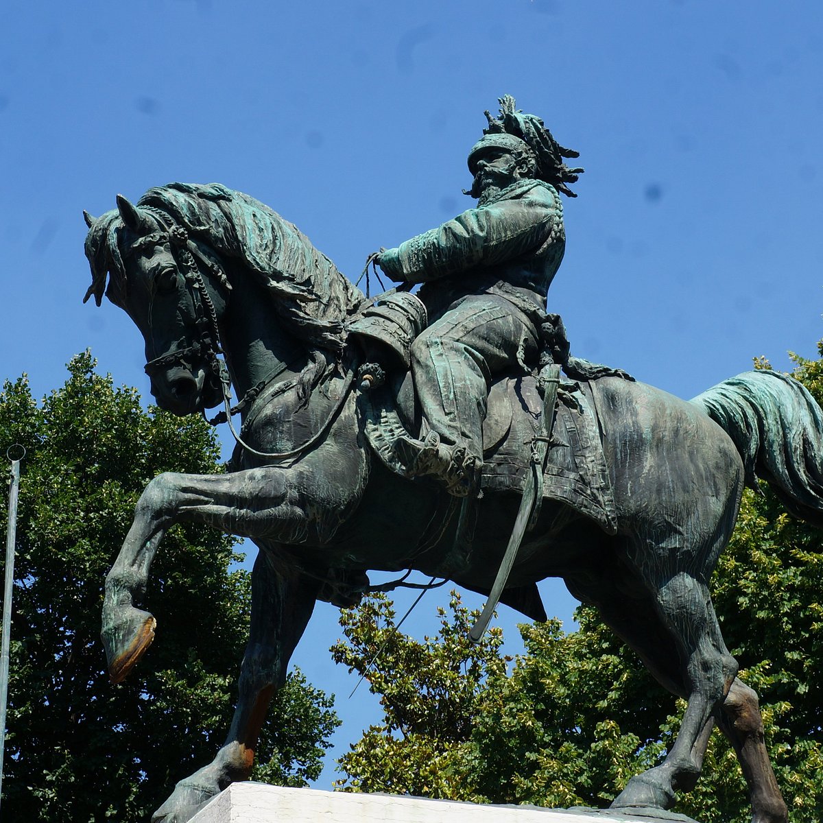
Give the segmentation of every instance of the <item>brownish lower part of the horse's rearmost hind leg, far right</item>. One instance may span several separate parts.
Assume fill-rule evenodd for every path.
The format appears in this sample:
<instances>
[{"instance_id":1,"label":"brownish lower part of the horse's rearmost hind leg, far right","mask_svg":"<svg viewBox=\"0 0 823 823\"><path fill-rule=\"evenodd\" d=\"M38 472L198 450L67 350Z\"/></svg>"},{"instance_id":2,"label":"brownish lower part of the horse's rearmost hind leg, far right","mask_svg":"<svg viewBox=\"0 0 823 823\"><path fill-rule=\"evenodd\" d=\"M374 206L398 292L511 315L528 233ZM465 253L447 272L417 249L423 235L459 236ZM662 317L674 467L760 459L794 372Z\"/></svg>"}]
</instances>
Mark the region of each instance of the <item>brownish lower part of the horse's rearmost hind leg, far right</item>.
<instances>
[{"instance_id":1,"label":"brownish lower part of the horse's rearmost hind leg, far right","mask_svg":"<svg viewBox=\"0 0 823 823\"><path fill-rule=\"evenodd\" d=\"M718 725L740 760L749 787L751 823L786 823L788 809L765 746L756 691L737 677L718 714Z\"/></svg>"}]
</instances>

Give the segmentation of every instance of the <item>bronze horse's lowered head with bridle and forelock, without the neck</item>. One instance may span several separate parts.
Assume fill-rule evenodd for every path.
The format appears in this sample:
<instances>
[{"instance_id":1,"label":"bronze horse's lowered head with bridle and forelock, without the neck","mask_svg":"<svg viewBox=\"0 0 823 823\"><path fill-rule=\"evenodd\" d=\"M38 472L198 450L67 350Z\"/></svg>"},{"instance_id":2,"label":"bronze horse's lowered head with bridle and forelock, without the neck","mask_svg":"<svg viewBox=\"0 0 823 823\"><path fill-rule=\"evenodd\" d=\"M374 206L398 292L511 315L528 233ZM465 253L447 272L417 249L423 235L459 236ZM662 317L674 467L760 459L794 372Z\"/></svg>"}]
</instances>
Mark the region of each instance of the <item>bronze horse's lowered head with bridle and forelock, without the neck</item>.
<instances>
[{"instance_id":1,"label":"bronze horse's lowered head with bridle and forelock, without the neck","mask_svg":"<svg viewBox=\"0 0 823 823\"><path fill-rule=\"evenodd\" d=\"M229 281L216 253L152 207L118 195L117 209L86 214L86 254L97 305L106 294L133 320L146 344L146 374L157 404L184 416L223 401L220 323Z\"/></svg>"}]
</instances>

